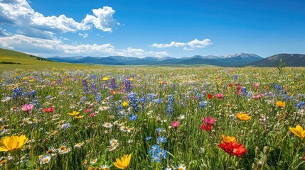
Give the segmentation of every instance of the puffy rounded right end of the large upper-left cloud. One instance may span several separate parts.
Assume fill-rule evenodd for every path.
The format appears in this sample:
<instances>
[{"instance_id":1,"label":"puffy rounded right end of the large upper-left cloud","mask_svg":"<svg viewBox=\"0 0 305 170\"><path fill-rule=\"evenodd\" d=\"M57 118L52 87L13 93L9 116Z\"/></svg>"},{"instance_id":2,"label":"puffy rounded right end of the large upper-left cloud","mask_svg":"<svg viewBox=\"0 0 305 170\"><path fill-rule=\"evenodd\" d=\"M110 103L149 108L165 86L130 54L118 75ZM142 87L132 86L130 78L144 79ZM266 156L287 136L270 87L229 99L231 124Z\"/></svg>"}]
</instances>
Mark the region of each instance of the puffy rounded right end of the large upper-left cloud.
<instances>
[{"instance_id":1,"label":"puffy rounded right end of the large upper-left cloud","mask_svg":"<svg viewBox=\"0 0 305 170\"><path fill-rule=\"evenodd\" d=\"M87 14L83 21L84 24L93 23L95 28L106 32L112 32L112 28L119 25L119 23L117 23L113 18L115 11L109 6L92 9L92 12L95 14L95 16Z\"/></svg>"}]
</instances>

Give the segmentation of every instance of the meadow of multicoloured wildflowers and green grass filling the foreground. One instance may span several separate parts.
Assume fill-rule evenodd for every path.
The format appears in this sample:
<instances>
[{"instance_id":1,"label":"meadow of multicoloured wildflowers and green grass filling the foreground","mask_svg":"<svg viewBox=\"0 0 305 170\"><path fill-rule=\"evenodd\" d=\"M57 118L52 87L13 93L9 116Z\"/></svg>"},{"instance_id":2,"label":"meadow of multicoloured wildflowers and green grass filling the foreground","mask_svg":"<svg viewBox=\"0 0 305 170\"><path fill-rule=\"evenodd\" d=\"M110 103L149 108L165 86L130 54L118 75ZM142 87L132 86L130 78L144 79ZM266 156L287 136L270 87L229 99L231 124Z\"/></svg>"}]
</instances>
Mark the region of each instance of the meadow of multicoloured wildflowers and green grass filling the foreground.
<instances>
[{"instance_id":1,"label":"meadow of multicoloured wildflowers and green grass filling the foreground","mask_svg":"<svg viewBox=\"0 0 305 170\"><path fill-rule=\"evenodd\" d=\"M0 74L0 169L305 169L304 68Z\"/></svg>"}]
</instances>

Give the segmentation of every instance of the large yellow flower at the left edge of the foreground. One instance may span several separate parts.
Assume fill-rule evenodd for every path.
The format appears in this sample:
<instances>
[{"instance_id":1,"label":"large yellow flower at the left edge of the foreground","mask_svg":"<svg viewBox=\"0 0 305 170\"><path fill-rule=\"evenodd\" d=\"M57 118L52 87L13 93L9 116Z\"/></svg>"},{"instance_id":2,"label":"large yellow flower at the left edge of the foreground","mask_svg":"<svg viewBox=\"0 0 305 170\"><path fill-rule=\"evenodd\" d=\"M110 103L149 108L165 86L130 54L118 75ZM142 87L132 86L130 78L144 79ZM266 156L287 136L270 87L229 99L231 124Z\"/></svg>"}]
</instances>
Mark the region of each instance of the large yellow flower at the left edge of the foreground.
<instances>
[{"instance_id":1,"label":"large yellow flower at the left edge of the foreground","mask_svg":"<svg viewBox=\"0 0 305 170\"><path fill-rule=\"evenodd\" d=\"M20 149L26 142L28 137L25 135L4 137L0 140L0 152L13 151L14 149Z\"/></svg>"}]
</instances>

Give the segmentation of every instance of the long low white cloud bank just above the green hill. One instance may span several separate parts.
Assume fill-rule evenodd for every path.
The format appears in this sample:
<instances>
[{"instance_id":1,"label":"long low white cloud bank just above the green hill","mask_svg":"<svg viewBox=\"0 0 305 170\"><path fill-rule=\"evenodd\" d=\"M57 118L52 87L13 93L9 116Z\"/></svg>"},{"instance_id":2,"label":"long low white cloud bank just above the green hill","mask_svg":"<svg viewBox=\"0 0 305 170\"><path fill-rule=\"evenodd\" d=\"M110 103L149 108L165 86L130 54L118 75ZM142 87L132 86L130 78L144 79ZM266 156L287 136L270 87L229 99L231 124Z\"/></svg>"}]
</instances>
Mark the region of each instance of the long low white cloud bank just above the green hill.
<instances>
[{"instance_id":1,"label":"long low white cloud bank just above the green hill","mask_svg":"<svg viewBox=\"0 0 305 170\"><path fill-rule=\"evenodd\" d=\"M81 44L68 45L62 40L31 38L25 35L13 35L10 37L0 37L0 47L14 48L22 52L36 52L36 55L50 57L54 55L71 56L71 55L92 55L92 56L108 56L123 55L133 57L144 56L168 56L168 52L144 51L142 49L128 47L127 49L115 49L113 45L106 43L97 44Z\"/></svg>"}]
</instances>

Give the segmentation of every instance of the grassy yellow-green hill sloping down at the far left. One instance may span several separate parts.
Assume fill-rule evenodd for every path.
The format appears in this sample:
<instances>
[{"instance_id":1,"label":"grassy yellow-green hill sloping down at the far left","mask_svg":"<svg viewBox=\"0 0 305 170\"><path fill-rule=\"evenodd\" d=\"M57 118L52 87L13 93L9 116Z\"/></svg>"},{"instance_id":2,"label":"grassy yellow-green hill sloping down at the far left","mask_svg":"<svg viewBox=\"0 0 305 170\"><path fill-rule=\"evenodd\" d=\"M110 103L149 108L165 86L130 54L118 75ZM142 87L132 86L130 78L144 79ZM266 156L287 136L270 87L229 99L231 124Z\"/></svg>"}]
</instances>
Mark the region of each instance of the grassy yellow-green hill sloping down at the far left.
<instances>
[{"instance_id":1,"label":"grassy yellow-green hill sloping down at the far left","mask_svg":"<svg viewBox=\"0 0 305 170\"><path fill-rule=\"evenodd\" d=\"M101 65L89 64L70 64L64 62L52 62L43 57L28 55L23 52L14 50L6 50L0 48L0 69L21 69L21 68L70 68L70 69L85 69L85 68L101 68Z\"/></svg>"}]
</instances>

